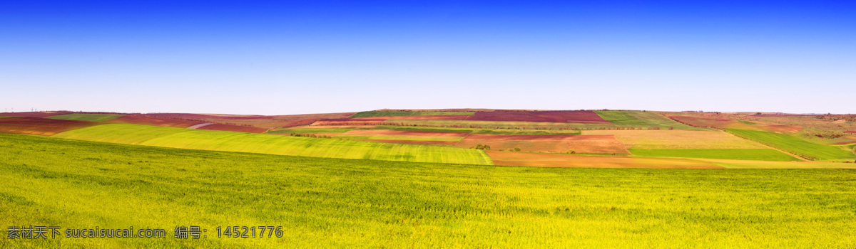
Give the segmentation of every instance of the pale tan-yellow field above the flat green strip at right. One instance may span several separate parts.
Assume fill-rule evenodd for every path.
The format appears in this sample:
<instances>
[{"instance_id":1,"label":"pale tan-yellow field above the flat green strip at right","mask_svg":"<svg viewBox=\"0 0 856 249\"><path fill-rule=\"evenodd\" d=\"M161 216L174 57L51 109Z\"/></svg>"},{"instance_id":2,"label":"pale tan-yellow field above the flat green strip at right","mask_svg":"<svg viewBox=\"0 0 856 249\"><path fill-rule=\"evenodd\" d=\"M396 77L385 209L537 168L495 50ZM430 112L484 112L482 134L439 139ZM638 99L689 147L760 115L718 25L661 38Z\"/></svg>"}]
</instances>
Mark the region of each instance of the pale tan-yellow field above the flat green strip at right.
<instances>
[{"instance_id":1,"label":"pale tan-yellow field above the flat green strip at right","mask_svg":"<svg viewBox=\"0 0 856 249\"><path fill-rule=\"evenodd\" d=\"M583 130L583 135L614 135L636 149L766 148L720 130Z\"/></svg>"}]
</instances>

